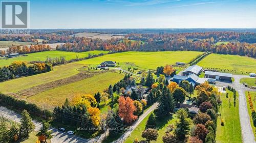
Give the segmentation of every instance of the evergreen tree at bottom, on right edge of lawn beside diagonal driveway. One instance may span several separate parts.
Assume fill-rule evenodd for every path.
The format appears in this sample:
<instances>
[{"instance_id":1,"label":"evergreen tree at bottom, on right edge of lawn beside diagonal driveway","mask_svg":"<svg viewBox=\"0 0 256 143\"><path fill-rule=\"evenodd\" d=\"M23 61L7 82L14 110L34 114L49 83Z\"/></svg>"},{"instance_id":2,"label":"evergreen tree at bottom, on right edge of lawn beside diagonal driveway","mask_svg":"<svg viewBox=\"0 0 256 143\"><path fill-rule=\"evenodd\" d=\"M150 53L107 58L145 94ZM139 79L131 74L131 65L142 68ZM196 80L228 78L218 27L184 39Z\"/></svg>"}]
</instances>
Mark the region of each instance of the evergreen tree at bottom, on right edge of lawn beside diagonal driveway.
<instances>
[{"instance_id":1,"label":"evergreen tree at bottom, on right edge of lawn beside diagonal driveway","mask_svg":"<svg viewBox=\"0 0 256 143\"><path fill-rule=\"evenodd\" d=\"M181 108L176 112L176 115L177 115L178 121L175 122L176 129L174 131L174 134L178 140L184 141L186 138L186 135L190 130L188 113L186 109Z\"/></svg>"}]
</instances>

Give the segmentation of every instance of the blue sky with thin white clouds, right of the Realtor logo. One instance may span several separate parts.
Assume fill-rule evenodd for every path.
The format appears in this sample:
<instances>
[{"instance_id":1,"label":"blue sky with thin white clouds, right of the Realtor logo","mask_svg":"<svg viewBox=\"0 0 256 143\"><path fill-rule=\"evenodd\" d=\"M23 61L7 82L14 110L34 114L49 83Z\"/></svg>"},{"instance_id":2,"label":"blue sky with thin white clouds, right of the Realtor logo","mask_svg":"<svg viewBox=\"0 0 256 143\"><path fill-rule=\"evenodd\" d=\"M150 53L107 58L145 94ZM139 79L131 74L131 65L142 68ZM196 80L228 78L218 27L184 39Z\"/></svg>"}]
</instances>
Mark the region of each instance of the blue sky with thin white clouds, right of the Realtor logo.
<instances>
[{"instance_id":1,"label":"blue sky with thin white clouds, right of the Realtor logo","mask_svg":"<svg viewBox=\"0 0 256 143\"><path fill-rule=\"evenodd\" d=\"M31 0L31 28L255 28L255 0Z\"/></svg>"}]
</instances>

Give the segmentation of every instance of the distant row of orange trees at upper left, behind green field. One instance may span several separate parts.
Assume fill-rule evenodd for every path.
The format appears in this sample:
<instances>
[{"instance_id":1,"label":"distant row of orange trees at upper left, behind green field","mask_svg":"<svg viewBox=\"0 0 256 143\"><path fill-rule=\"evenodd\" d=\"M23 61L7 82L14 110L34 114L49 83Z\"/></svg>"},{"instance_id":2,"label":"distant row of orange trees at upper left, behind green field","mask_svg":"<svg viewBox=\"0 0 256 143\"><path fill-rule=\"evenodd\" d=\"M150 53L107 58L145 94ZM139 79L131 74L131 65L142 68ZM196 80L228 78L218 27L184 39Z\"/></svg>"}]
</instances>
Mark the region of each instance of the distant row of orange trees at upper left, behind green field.
<instances>
[{"instance_id":1,"label":"distant row of orange trees at upper left, behind green field","mask_svg":"<svg viewBox=\"0 0 256 143\"><path fill-rule=\"evenodd\" d=\"M8 49L8 53L33 53L33 52L40 52L40 51L49 51L51 47L49 45L30 45L28 46L11 46Z\"/></svg>"}]
</instances>

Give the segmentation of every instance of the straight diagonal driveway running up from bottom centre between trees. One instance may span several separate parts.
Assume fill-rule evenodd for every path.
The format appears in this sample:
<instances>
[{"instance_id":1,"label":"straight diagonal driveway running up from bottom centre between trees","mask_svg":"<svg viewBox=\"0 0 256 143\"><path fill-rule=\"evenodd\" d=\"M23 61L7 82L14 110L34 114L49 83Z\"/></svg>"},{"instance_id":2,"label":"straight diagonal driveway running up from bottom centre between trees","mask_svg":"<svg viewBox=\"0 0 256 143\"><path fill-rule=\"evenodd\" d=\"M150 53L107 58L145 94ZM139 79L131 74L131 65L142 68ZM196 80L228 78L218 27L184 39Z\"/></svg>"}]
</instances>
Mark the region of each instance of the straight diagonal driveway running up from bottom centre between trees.
<instances>
[{"instance_id":1,"label":"straight diagonal driveway running up from bottom centre between trees","mask_svg":"<svg viewBox=\"0 0 256 143\"><path fill-rule=\"evenodd\" d=\"M146 116L147 116L148 114L150 114L153 110L155 110L158 105L159 105L158 103L155 103L155 104L153 104L149 109L147 109L147 110L139 117L139 119L138 119L131 127L129 127L129 129L128 129L124 134L122 134L122 136L120 136L117 140L113 141L113 143L121 143L121 142L124 142L125 139L131 135L132 131L140 124L140 122L142 122L142 120L143 120L144 118L146 118Z\"/></svg>"}]
</instances>

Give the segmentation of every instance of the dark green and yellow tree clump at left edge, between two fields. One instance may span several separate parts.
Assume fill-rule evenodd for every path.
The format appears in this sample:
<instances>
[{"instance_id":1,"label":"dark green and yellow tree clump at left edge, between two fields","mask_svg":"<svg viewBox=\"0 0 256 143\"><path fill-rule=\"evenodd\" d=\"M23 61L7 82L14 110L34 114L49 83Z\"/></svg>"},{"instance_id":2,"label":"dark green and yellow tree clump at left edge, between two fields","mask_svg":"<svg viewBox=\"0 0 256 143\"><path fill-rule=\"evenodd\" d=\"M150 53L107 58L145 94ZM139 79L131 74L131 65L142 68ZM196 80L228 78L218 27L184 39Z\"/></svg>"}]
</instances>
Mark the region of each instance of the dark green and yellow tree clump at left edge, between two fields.
<instances>
[{"instance_id":1,"label":"dark green and yellow tree clump at left edge, between two fields","mask_svg":"<svg viewBox=\"0 0 256 143\"><path fill-rule=\"evenodd\" d=\"M28 65L25 62L15 61L9 66L0 67L0 82L20 76L34 75L52 70L50 63L34 63Z\"/></svg>"}]
</instances>

